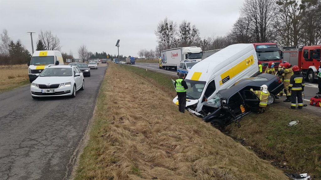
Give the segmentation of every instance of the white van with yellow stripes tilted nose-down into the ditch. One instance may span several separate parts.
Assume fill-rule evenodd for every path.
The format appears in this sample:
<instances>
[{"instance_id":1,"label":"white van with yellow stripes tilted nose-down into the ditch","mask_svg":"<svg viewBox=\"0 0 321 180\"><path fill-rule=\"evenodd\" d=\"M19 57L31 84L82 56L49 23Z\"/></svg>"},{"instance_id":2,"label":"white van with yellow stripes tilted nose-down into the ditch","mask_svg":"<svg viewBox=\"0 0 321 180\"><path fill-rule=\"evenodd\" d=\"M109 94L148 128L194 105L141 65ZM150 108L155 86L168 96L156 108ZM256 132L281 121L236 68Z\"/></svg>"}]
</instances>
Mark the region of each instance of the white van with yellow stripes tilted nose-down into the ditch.
<instances>
[{"instance_id":1,"label":"white van with yellow stripes tilted nose-down into the ditch","mask_svg":"<svg viewBox=\"0 0 321 180\"><path fill-rule=\"evenodd\" d=\"M259 74L257 56L253 44L230 45L221 51L195 64L185 81L186 107L196 115L202 115L207 100L213 99L217 92L226 89L243 78ZM178 105L177 96L173 102Z\"/></svg>"}]
</instances>

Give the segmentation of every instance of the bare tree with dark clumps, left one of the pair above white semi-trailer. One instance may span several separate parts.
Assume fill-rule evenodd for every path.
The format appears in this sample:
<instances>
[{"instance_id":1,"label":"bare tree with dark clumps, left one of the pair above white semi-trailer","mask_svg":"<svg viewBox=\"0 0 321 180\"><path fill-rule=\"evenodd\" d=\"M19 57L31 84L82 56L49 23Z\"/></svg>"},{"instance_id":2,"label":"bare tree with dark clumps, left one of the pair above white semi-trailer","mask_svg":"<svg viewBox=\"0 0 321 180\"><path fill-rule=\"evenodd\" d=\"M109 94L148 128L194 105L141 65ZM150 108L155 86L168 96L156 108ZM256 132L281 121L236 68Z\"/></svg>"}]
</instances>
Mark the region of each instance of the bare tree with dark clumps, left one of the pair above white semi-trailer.
<instances>
[{"instance_id":1,"label":"bare tree with dark clumps, left one of the pair above white semi-trailer","mask_svg":"<svg viewBox=\"0 0 321 180\"><path fill-rule=\"evenodd\" d=\"M158 23L155 35L159 44L164 44L167 49L170 49L177 42L177 24L166 17Z\"/></svg>"}]
</instances>

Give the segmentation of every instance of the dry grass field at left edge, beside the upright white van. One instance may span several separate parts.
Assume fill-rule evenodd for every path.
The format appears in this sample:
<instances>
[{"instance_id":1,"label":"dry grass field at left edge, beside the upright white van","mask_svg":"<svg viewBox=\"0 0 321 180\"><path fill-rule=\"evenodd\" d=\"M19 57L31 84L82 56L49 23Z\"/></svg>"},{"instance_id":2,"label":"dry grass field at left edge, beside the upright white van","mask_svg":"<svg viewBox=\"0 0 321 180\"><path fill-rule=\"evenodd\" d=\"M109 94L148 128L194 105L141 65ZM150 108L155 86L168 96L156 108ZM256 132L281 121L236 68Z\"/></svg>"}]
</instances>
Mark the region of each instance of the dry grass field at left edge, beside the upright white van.
<instances>
[{"instance_id":1,"label":"dry grass field at left edge, beside the upright white van","mask_svg":"<svg viewBox=\"0 0 321 180\"><path fill-rule=\"evenodd\" d=\"M0 93L29 83L26 64L0 66Z\"/></svg>"}]
</instances>

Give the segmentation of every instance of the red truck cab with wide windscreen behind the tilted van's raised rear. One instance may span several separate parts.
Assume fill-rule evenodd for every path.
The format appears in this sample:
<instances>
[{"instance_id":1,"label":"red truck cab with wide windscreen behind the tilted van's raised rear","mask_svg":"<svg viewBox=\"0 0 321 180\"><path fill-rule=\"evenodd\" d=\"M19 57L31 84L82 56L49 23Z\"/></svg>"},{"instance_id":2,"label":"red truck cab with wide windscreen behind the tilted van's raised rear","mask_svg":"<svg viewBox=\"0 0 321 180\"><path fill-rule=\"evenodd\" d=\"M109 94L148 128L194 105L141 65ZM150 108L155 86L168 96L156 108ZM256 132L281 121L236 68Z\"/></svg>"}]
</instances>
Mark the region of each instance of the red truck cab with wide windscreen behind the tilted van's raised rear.
<instances>
[{"instance_id":1,"label":"red truck cab with wide windscreen behind the tilted van's raised rear","mask_svg":"<svg viewBox=\"0 0 321 180\"><path fill-rule=\"evenodd\" d=\"M275 43L252 43L254 45L259 64L262 65L263 72L270 61L274 62L274 69L277 69L282 62L282 51Z\"/></svg>"}]
</instances>

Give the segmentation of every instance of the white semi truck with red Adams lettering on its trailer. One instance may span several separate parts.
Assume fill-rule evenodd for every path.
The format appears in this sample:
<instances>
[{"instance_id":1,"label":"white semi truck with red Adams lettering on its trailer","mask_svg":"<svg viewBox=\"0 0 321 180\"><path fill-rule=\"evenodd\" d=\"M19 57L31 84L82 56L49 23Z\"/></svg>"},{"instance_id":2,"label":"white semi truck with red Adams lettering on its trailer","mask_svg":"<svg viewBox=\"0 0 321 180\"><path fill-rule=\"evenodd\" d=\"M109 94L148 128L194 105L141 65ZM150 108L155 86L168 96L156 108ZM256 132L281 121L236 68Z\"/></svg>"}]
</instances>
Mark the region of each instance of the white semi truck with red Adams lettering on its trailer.
<instances>
[{"instance_id":1,"label":"white semi truck with red Adams lettering on its trailer","mask_svg":"<svg viewBox=\"0 0 321 180\"><path fill-rule=\"evenodd\" d=\"M177 70L177 64L181 61L201 61L202 49L200 47L179 47L161 51L162 68Z\"/></svg>"}]
</instances>

